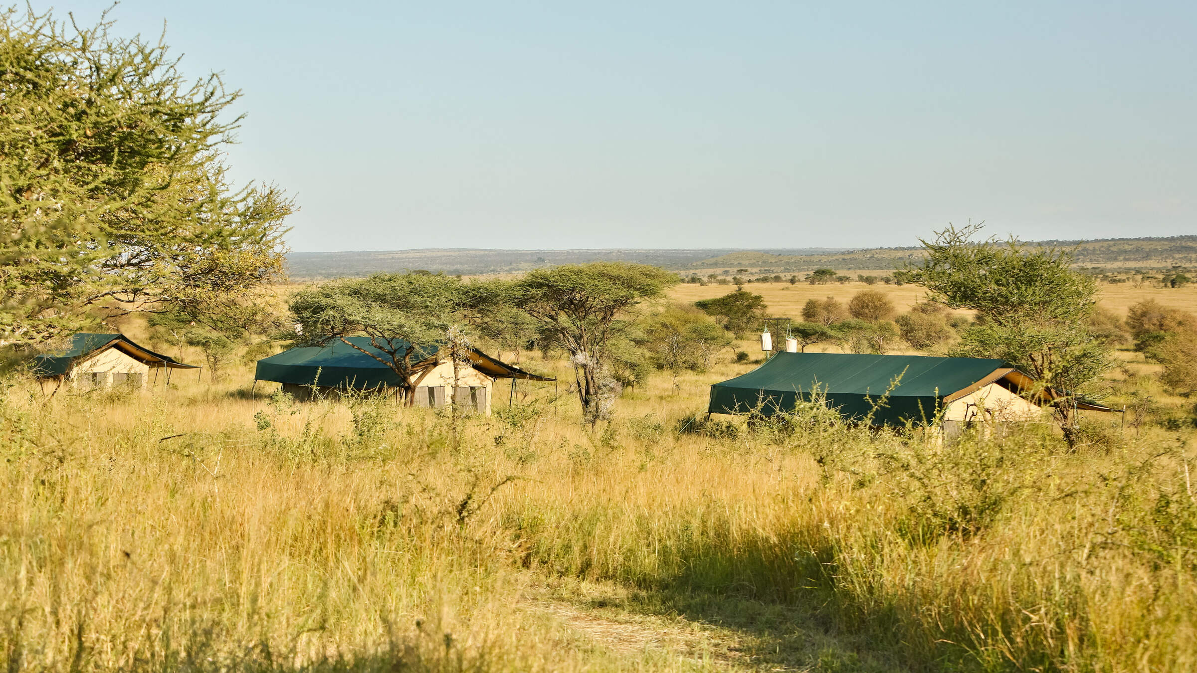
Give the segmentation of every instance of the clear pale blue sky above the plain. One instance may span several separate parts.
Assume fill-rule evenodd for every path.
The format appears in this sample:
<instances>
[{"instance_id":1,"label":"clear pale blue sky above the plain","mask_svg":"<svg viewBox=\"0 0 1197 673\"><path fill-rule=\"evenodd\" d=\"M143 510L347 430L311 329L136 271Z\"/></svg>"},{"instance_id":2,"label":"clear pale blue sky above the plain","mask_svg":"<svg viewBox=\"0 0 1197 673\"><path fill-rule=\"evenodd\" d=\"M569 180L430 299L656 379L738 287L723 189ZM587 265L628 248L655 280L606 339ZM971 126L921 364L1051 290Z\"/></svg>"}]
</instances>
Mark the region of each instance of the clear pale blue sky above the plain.
<instances>
[{"instance_id":1,"label":"clear pale blue sky above the plain","mask_svg":"<svg viewBox=\"0 0 1197 673\"><path fill-rule=\"evenodd\" d=\"M36 8L49 6L35 0ZM56 2L92 23L107 1ZM296 250L1197 232L1197 2L124 0Z\"/></svg>"}]
</instances>

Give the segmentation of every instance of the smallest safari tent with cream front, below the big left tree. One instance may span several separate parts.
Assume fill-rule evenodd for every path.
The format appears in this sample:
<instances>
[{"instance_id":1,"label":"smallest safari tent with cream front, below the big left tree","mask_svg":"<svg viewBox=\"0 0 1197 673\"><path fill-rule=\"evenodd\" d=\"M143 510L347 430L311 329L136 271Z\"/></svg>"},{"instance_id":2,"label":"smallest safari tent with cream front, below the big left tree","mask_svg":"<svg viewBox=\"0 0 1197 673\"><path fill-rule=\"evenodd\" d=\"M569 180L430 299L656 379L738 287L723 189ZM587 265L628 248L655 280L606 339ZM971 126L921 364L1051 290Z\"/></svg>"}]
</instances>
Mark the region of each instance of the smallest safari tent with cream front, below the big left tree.
<instances>
[{"instance_id":1,"label":"smallest safari tent with cream front, below the big left tree","mask_svg":"<svg viewBox=\"0 0 1197 673\"><path fill-rule=\"evenodd\" d=\"M124 334L79 333L71 346L56 353L35 356L34 375L43 381L68 382L79 389L128 386L138 389L151 383L159 370L198 369L135 344Z\"/></svg>"}]
</instances>

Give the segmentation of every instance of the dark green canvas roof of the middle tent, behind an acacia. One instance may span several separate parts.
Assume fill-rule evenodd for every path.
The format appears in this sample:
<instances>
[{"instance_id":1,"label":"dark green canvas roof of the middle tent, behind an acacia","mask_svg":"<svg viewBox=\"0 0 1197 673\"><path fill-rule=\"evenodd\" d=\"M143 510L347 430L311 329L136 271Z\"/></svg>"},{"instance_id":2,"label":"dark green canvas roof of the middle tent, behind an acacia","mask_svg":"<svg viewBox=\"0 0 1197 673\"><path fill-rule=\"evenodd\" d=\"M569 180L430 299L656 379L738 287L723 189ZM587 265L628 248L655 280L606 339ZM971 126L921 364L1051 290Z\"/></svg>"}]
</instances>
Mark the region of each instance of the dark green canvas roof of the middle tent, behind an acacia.
<instances>
[{"instance_id":1,"label":"dark green canvas roof of the middle tent, behind an acacia","mask_svg":"<svg viewBox=\"0 0 1197 673\"><path fill-rule=\"evenodd\" d=\"M389 366L358 350L369 351L384 360L390 358L385 352L373 347L369 336L348 336L347 340L353 345L333 339L323 346L299 346L262 358L257 360L254 378L299 386L352 387L363 390L399 384L399 375ZM407 347L407 341L395 339L387 344L387 347L401 350ZM432 346L419 352L413 359L424 366L431 366L436 362L437 351L439 346ZM481 351L473 351L470 359L474 369L492 378L553 381L497 360Z\"/></svg>"}]
</instances>

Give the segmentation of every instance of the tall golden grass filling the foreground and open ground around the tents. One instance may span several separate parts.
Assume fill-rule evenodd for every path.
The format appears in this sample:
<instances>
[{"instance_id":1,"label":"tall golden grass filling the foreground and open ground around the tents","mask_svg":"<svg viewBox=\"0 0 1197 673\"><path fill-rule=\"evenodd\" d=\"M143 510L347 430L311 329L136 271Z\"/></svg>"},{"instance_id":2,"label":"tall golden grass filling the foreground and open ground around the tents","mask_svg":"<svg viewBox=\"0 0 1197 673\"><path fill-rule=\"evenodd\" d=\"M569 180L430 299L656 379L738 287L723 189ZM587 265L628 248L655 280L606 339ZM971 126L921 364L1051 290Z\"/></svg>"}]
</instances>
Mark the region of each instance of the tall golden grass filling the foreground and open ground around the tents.
<instances>
[{"instance_id":1,"label":"tall golden grass filling the foreground and open ground around the tents","mask_svg":"<svg viewBox=\"0 0 1197 673\"><path fill-rule=\"evenodd\" d=\"M863 287L746 289L786 314ZM683 430L711 382L753 366L735 350L625 392L594 430L566 365L522 353L561 395L524 384L508 406L500 386L456 443L432 410L251 395L251 363L148 394L18 381L0 395L0 657L13 673L1197 668L1193 402L1142 356L1113 372L1125 423L1087 419L1069 451L1039 425L950 447L815 420Z\"/></svg>"}]
</instances>

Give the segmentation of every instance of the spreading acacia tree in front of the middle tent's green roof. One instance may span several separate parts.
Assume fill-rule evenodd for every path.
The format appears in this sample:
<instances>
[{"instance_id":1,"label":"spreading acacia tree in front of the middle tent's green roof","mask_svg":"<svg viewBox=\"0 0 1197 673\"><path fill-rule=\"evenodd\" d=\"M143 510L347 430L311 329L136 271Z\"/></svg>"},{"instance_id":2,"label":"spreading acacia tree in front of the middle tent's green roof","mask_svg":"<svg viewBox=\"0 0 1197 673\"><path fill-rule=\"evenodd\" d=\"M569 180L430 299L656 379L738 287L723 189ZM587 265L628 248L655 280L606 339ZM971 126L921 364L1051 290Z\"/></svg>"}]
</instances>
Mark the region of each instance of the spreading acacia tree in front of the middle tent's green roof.
<instances>
[{"instance_id":1,"label":"spreading acacia tree in front of the middle tent's green roof","mask_svg":"<svg viewBox=\"0 0 1197 673\"><path fill-rule=\"evenodd\" d=\"M414 365L446 339L461 320L461 307L460 280L421 273L334 280L296 293L290 303L305 342L340 340L390 368L408 404L414 401ZM367 336L383 354L350 341L354 335Z\"/></svg>"}]
</instances>

